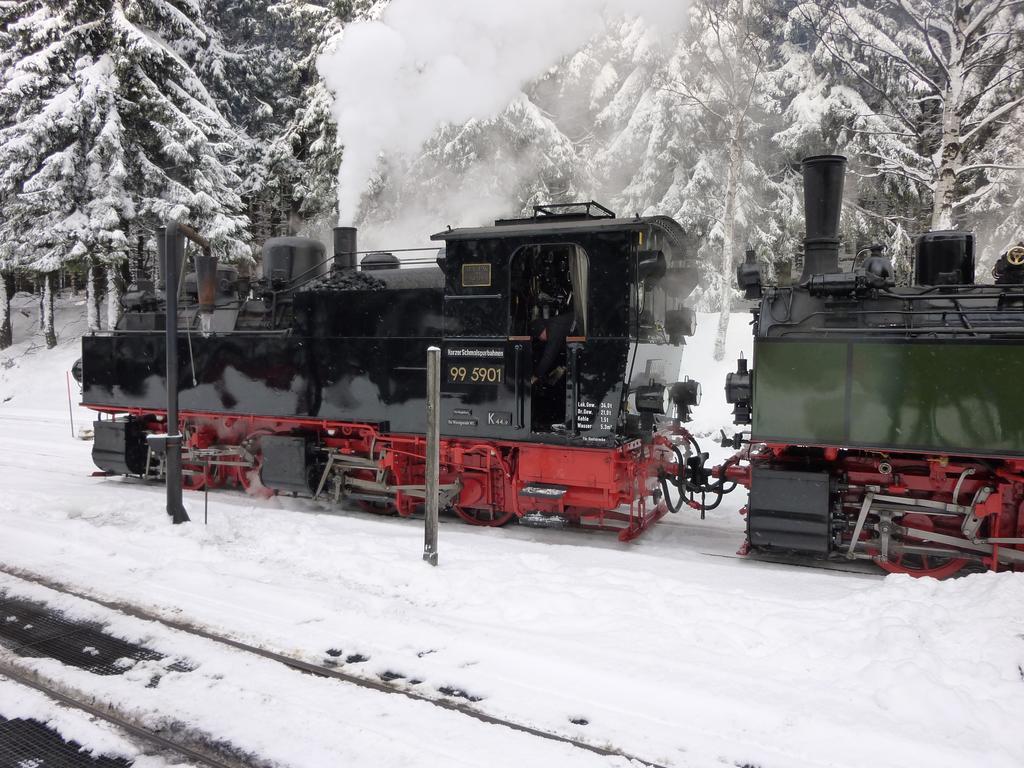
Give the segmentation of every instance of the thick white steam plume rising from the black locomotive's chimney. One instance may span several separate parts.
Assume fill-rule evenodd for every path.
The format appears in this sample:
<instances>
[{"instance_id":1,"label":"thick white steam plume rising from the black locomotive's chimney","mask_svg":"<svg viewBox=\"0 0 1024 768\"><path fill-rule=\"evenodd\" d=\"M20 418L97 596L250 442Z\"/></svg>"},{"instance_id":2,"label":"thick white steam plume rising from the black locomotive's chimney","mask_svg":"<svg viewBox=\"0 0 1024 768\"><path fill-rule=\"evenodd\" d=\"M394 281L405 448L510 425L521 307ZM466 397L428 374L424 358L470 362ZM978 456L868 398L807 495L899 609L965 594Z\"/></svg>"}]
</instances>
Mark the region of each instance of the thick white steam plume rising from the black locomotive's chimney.
<instances>
[{"instance_id":1,"label":"thick white steam plume rising from the black locomotive's chimney","mask_svg":"<svg viewBox=\"0 0 1024 768\"><path fill-rule=\"evenodd\" d=\"M497 115L610 19L643 18L656 37L686 15L684 0L393 0L380 20L349 26L319 61L344 146L340 223L354 222L382 158Z\"/></svg>"}]
</instances>

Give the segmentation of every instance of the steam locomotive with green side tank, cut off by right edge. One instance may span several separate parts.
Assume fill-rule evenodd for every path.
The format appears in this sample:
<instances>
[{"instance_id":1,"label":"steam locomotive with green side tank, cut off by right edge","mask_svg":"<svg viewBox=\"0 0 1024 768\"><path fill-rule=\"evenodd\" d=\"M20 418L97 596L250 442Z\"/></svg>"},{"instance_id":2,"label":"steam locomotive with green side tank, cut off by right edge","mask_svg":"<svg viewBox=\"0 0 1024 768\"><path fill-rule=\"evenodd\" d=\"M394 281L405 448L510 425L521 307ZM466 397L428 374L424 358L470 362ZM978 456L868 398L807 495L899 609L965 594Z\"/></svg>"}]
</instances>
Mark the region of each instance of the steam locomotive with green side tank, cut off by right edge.
<instances>
[{"instance_id":1,"label":"steam locomotive with green side tank, cut off by right edge","mask_svg":"<svg viewBox=\"0 0 1024 768\"><path fill-rule=\"evenodd\" d=\"M726 383L749 442L716 472L750 489L749 552L868 558L947 577L1024 567L1024 249L975 283L974 236L933 231L913 283L881 249L839 268L845 159L804 162L799 283L737 272L754 359Z\"/></svg>"}]
</instances>

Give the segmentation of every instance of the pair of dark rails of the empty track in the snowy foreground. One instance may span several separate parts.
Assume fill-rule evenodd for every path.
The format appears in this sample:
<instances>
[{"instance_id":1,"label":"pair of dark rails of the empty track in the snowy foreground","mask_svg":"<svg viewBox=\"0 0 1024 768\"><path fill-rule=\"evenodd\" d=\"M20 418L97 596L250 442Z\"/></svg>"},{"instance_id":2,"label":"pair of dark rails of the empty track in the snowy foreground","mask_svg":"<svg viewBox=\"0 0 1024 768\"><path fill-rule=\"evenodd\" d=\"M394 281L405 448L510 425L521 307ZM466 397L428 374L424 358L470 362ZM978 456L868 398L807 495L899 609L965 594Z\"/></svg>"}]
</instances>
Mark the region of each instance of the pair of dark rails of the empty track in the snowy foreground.
<instances>
[{"instance_id":1,"label":"pair of dark rails of the empty track in the snowy foreground","mask_svg":"<svg viewBox=\"0 0 1024 768\"><path fill-rule=\"evenodd\" d=\"M204 627L197 626L186 621L167 618L165 616L158 615L157 613L147 610L138 605L133 605L130 603L124 603L119 601L104 600L81 590L75 589L72 586L66 585L62 582L43 577L39 573L34 573L24 568L12 567L3 563L0 563L0 573L7 577L22 581L23 583L33 584L41 587L45 587L53 592L59 593L61 595L67 595L74 597L78 600L82 600L91 603L96 606L100 606L111 611L116 611L122 615L131 616L134 618L153 622L169 630L175 632L185 633L194 637L202 638L204 640L212 641L214 643L232 648L234 650L240 650L245 653L252 654L253 656L258 656L263 659L268 659L297 673L302 673L306 675L313 675L322 678L329 678L333 680L340 681L342 683L356 686L362 689L368 689L372 691L379 692L385 695L400 696L403 698L412 699L414 701L420 701L428 703L430 706L439 708L446 712L453 713L455 715L470 718L487 725L493 725L499 728L508 729L517 733L526 734L539 739L545 739L561 744L566 744L571 748L588 752L594 755L608 758L623 758L630 761L632 764L637 766L646 766L647 768L666 768L666 766L647 760L630 753L612 749L609 746L602 746L596 743L591 743L588 741L583 741L571 736L562 735L552 731L542 730L540 728L535 728L523 723L519 723L506 718L496 717L494 715L488 715L481 710L472 707L470 703L464 703L462 701L449 698L426 695L417 691L409 690L392 682L387 682L378 679L372 679L368 677L362 677L358 675L352 675L350 673L342 672L341 670L328 667L321 664L314 664L307 662L296 656L292 656L286 653L281 653L272 649L259 647L252 645L250 643L245 643L234 638L228 637L226 635L213 632ZM0 645L2 647L2 645ZM20 665L14 665L10 663L9 659L0 659L0 675L9 677L10 679L18 682L23 685L32 687L61 703L70 707L74 707L91 715L99 717L113 725L122 728L126 732L136 736L139 739L155 743L161 749L170 750L181 754L182 756L193 760L199 765L204 766L216 766L220 768L239 768L240 766L251 767L254 765L251 761L242 760L239 762L237 758L232 758L230 755L222 754L222 751L218 754L218 745L214 739L209 740L209 744L203 743L189 743L187 740L182 740L180 737L167 736L151 728L147 728L144 724L140 724L134 721L132 718L125 716L124 714L118 712L116 709L111 707L97 706L89 700L89 697L80 692L72 691L65 688L59 681L50 680L40 677L38 674L28 671L20 667ZM193 734L193 738L195 734ZM258 763L255 763L258 765Z\"/></svg>"}]
</instances>

